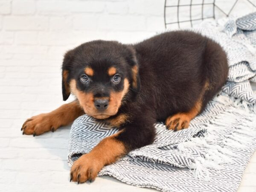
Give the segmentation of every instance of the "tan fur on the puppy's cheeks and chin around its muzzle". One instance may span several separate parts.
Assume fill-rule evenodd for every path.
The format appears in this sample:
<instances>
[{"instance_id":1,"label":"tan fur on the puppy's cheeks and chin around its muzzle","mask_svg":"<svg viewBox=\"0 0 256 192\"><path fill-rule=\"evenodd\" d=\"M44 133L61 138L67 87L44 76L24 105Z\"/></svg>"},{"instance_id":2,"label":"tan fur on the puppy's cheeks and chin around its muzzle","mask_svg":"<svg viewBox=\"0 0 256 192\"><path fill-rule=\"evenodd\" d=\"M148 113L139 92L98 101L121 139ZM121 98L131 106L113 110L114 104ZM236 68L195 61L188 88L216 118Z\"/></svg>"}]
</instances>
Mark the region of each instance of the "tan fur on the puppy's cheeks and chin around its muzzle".
<instances>
[{"instance_id":1,"label":"tan fur on the puppy's cheeks and chin around its muzzle","mask_svg":"<svg viewBox=\"0 0 256 192\"><path fill-rule=\"evenodd\" d=\"M84 93L76 88L76 80L70 81L70 89L72 93L79 100L80 105L84 109L85 113L89 116L93 116L96 119L106 119L109 116L113 116L117 113L121 102L125 94L129 89L128 79L124 79L124 89L120 92L111 92L109 97L109 106L104 112L99 112L94 106L94 98L92 93Z\"/></svg>"}]
</instances>

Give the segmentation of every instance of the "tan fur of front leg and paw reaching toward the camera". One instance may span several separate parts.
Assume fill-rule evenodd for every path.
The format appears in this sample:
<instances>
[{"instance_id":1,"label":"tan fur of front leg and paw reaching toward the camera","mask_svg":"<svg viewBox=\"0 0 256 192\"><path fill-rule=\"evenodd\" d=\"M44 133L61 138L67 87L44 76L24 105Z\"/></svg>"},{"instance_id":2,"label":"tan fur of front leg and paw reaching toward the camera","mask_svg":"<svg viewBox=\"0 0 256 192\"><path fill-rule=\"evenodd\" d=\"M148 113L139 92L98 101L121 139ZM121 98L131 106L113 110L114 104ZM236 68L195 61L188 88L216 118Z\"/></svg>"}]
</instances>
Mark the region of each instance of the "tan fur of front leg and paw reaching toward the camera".
<instances>
[{"instance_id":1,"label":"tan fur of front leg and paw reaching toward the camera","mask_svg":"<svg viewBox=\"0 0 256 192\"><path fill-rule=\"evenodd\" d=\"M103 166L114 163L126 154L124 144L115 139L120 133L121 131L103 139L90 153L76 160L70 171L71 180L79 183L95 180Z\"/></svg>"}]
</instances>

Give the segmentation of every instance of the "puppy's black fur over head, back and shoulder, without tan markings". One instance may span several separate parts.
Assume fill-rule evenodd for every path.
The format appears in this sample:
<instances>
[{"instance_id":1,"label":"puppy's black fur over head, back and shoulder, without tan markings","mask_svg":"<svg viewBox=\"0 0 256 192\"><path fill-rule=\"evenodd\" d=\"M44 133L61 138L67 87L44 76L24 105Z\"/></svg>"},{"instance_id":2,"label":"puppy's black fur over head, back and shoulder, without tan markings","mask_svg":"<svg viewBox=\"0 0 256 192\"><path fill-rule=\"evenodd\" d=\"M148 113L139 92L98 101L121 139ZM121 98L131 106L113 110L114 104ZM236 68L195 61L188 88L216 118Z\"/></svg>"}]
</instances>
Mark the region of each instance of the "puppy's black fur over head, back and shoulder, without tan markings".
<instances>
[{"instance_id":1,"label":"puppy's black fur over head, back and shoulder, without tan markings","mask_svg":"<svg viewBox=\"0 0 256 192\"><path fill-rule=\"evenodd\" d=\"M137 86L132 87L131 68L135 65L139 73ZM86 66L92 67L95 75L90 84L84 85L79 77ZM107 76L111 66L116 67L122 77L118 85L111 84ZM131 86L118 113L109 117L129 114L129 121L120 126L123 132L117 137L128 151L152 143L153 124L175 113L189 111L208 82L209 89L202 99L203 110L221 89L228 73L224 50L209 38L189 31L166 32L133 45L91 41L68 52L63 69L69 71L69 80L77 80L79 90L96 96L109 96L111 90L118 92L124 87L123 80L129 80ZM66 100L68 95L63 97Z\"/></svg>"}]
</instances>

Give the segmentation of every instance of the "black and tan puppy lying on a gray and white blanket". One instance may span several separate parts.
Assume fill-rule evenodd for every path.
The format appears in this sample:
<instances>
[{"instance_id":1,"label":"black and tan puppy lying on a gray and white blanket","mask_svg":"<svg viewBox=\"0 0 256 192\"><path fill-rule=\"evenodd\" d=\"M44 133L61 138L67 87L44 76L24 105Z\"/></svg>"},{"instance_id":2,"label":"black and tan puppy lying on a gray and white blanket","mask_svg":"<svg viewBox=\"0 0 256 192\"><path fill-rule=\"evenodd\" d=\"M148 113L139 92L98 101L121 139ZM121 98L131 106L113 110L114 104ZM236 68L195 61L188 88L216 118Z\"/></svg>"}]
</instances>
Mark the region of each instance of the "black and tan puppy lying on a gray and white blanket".
<instances>
[{"instance_id":1,"label":"black and tan puppy lying on a gray and white blanket","mask_svg":"<svg viewBox=\"0 0 256 192\"><path fill-rule=\"evenodd\" d=\"M66 53L63 99L77 100L28 119L23 134L55 131L86 113L118 127L73 165L71 180L94 180L103 166L153 142L154 123L188 128L226 81L223 49L194 32L166 32L139 44L91 41Z\"/></svg>"}]
</instances>

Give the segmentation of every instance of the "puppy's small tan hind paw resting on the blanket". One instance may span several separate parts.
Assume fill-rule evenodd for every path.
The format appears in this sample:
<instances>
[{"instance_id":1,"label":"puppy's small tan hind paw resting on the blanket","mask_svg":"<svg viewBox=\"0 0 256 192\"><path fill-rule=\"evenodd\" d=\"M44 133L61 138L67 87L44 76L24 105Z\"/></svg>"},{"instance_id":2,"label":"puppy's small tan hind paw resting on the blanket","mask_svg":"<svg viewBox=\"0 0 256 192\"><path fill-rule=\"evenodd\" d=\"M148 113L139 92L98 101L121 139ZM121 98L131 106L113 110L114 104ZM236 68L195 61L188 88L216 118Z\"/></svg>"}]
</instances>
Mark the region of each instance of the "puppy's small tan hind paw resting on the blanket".
<instances>
[{"instance_id":1,"label":"puppy's small tan hind paw resting on the blanket","mask_svg":"<svg viewBox=\"0 0 256 192\"><path fill-rule=\"evenodd\" d=\"M189 127L190 117L185 113L177 113L166 119L166 127L178 131Z\"/></svg>"}]
</instances>

